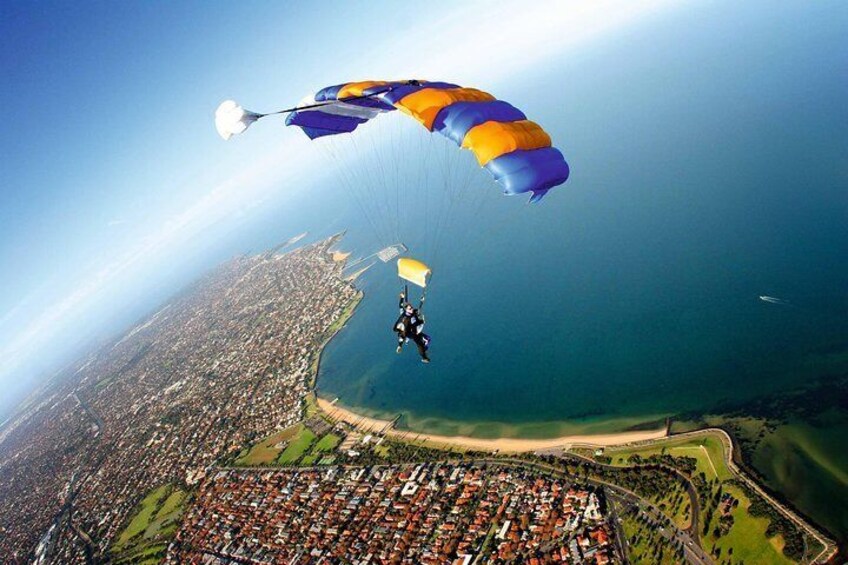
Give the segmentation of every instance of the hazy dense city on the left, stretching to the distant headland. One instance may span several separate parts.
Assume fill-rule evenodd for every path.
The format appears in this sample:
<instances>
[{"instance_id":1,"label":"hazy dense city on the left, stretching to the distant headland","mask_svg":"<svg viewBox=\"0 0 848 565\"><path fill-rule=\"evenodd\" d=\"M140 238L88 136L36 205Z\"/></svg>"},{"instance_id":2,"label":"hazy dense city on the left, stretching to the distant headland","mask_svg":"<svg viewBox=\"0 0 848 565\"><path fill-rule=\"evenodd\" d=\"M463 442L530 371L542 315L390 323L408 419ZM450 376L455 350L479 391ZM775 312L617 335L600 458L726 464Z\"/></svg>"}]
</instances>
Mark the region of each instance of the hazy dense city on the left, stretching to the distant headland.
<instances>
[{"instance_id":1,"label":"hazy dense city on the left, stretching to the distant headland","mask_svg":"<svg viewBox=\"0 0 848 565\"><path fill-rule=\"evenodd\" d=\"M359 298L336 241L235 258L57 379L4 430L0 554L28 562L61 522L51 560L105 555L154 486L297 421L316 350Z\"/></svg>"}]
</instances>

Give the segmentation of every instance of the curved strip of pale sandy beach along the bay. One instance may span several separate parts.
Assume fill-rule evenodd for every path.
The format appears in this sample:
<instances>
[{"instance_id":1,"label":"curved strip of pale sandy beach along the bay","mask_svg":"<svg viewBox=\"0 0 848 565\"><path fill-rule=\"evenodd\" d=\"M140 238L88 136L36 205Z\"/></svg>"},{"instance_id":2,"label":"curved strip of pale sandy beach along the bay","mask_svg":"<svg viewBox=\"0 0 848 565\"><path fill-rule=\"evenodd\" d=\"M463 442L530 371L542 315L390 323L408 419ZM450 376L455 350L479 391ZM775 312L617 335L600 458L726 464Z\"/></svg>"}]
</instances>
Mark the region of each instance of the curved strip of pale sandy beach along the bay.
<instances>
[{"instance_id":1,"label":"curved strip of pale sandy beach along the bay","mask_svg":"<svg viewBox=\"0 0 848 565\"><path fill-rule=\"evenodd\" d=\"M611 445L623 445L638 441L661 439L666 437L666 429L662 427L656 430L640 430L634 432L621 432L613 434L594 435L568 435L546 439L522 439L522 438L497 438L483 439L468 436L443 436L433 434L417 434L408 430L396 430L389 420L380 420L362 416L346 408L342 408L332 402L318 399L318 406L335 420L343 420L356 426L363 432L382 432L387 436L413 436L416 441L422 441L439 447L461 447L480 451L494 451L521 453L525 451L539 451L544 449L556 449L573 445L591 445L606 447Z\"/></svg>"}]
</instances>

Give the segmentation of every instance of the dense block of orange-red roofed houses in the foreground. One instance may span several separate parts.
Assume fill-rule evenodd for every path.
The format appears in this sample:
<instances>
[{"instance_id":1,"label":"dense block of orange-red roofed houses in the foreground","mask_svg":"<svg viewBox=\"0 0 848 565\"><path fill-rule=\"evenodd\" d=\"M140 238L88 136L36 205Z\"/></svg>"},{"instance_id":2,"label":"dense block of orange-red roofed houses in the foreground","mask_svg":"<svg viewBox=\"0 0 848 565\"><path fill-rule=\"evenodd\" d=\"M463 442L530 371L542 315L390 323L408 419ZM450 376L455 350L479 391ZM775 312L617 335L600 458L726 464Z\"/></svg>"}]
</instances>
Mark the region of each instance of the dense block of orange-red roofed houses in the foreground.
<instances>
[{"instance_id":1,"label":"dense block of orange-red roofed houses in the foreground","mask_svg":"<svg viewBox=\"0 0 848 565\"><path fill-rule=\"evenodd\" d=\"M620 562L602 500L497 464L226 470L200 488L167 562Z\"/></svg>"}]
</instances>

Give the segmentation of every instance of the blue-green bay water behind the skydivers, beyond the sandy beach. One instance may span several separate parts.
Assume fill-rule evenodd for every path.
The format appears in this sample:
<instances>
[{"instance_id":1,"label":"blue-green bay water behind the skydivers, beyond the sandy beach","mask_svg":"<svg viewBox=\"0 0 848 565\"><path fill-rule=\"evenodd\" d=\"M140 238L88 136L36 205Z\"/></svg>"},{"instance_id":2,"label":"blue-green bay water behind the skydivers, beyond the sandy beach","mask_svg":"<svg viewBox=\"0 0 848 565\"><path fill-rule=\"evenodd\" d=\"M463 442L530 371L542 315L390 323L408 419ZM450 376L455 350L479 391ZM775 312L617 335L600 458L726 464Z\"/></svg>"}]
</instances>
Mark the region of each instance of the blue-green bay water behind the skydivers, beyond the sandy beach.
<instances>
[{"instance_id":1,"label":"blue-green bay water behind the skydivers, beyond the sandy beach","mask_svg":"<svg viewBox=\"0 0 848 565\"><path fill-rule=\"evenodd\" d=\"M494 88L551 132L572 178L538 206L489 186L437 250L419 214L407 243L438 257L434 363L395 355L381 265L321 393L419 420L579 426L816 375L848 349L848 50L824 11L790 15L663 20ZM367 232L354 222L349 245Z\"/></svg>"}]
</instances>

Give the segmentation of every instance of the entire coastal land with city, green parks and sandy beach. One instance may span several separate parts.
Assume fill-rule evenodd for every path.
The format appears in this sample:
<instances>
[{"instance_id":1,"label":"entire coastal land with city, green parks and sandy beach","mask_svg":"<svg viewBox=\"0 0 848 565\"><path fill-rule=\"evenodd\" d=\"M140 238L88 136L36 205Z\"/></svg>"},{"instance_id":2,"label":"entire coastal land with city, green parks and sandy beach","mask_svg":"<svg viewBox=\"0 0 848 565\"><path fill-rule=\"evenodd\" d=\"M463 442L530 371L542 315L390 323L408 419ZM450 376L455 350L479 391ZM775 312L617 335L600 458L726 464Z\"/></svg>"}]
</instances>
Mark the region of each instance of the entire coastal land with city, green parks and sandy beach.
<instances>
[{"instance_id":1,"label":"entire coastal land with city, green parks and sandy beach","mask_svg":"<svg viewBox=\"0 0 848 565\"><path fill-rule=\"evenodd\" d=\"M362 296L340 237L223 264L36 396L0 437L0 551L706 565L750 563L775 535L795 562L835 551L735 466L722 430L500 453L317 398L321 351Z\"/></svg>"}]
</instances>

